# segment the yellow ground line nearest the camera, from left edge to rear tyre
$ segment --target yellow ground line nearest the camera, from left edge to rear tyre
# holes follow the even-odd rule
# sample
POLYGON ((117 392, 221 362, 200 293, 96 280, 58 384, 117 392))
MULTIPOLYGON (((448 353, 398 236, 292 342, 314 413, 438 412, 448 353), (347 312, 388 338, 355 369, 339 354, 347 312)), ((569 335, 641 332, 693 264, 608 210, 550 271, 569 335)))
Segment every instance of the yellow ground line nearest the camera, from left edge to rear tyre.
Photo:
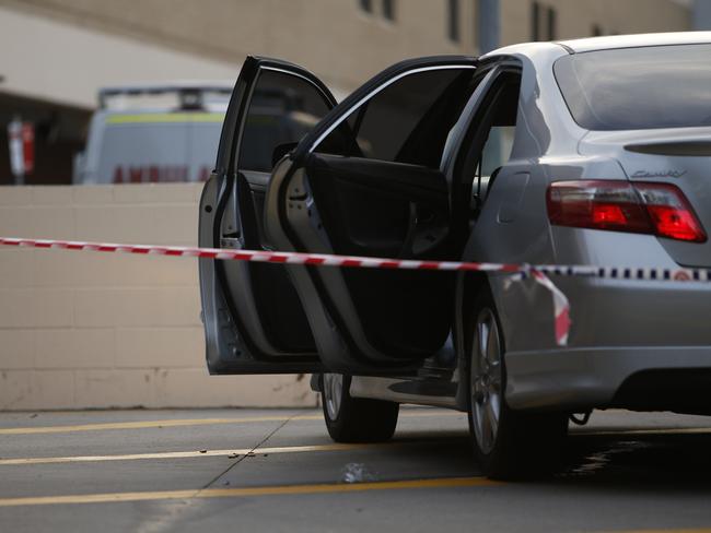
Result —
POLYGON ((244 498, 250 496, 285 496, 311 494, 359 493, 368 490, 404 490, 415 488, 462 488, 493 486, 500 483, 483 477, 443 477, 399 482, 352 484, 284 485, 254 488, 206 488, 203 490, 163 490, 145 493, 109 493, 69 496, 2 498, 0 507, 51 506, 72 504, 116 504, 126 501, 175 500, 190 498, 244 498))

